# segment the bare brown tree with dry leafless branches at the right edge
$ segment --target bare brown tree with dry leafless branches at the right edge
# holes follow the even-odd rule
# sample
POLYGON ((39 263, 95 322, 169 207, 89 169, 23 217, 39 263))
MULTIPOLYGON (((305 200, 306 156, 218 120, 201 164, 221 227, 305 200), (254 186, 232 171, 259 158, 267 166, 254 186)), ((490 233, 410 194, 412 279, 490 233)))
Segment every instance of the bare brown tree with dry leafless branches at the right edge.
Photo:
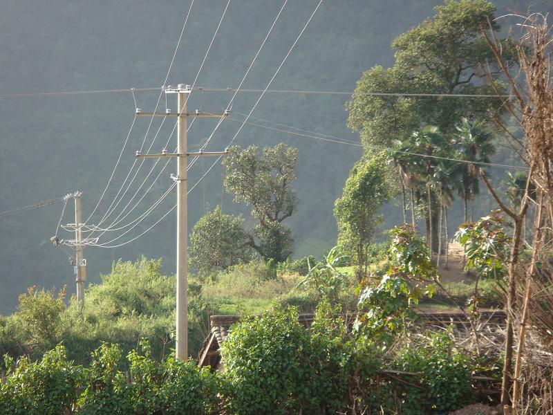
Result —
MULTIPOLYGON (((521 409, 521 373, 522 357, 524 353, 525 338, 527 333, 527 322, 529 311, 535 311, 536 320, 533 325, 536 329, 543 329, 543 333, 553 326, 552 318, 547 318, 547 310, 553 306, 551 295, 532 295, 536 284, 545 284, 545 291, 550 289, 553 283, 552 272, 549 261, 545 258, 550 252, 551 229, 553 225, 553 86, 551 82, 551 62, 553 39, 550 35, 550 28, 547 26, 547 19, 541 14, 532 14, 521 17, 522 28, 520 42, 516 44, 518 60, 521 72, 525 79, 525 86, 518 83, 518 77, 509 72, 507 64, 501 55, 501 45, 498 44, 493 35, 485 35, 497 62, 503 71, 510 87, 512 99, 505 100, 505 107, 514 119, 518 121, 524 133, 523 153, 521 160, 529 165, 529 174, 521 206, 517 212, 507 208, 500 200, 493 187, 483 172, 482 178, 496 199, 501 210, 508 214, 514 221, 514 232, 512 235, 511 252, 509 255, 509 291, 507 296, 507 339, 505 342, 505 362, 503 368, 503 385, 501 403, 505 414, 518 414, 521 409), (530 186, 536 187, 536 214, 534 216, 534 232, 532 234, 532 257, 524 269, 518 267, 518 250, 521 245, 521 230, 525 216, 528 212, 530 186), (544 249, 548 247, 547 249, 544 249), (539 282, 536 279, 538 274, 537 264, 541 266, 539 282), (544 283, 545 281, 545 283, 544 283), (523 294, 522 308, 516 307, 517 288, 523 294), (545 302, 543 299, 545 298, 545 302), (543 317, 543 318, 540 318, 543 317), (514 345, 513 323, 518 320, 518 341, 515 353, 514 371, 512 370, 512 356, 514 345), (511 405, 509 409, 510 382, 513 379, 511 405)), ((492 86, 494 80, 489 76, 492 86)), ((498 89, 496 88, 496 91, 498 89)), ((498 126, 504 124, 496 120, 498 126)), ((507 129, 505 129, 506 131, 507 129)), ((538 293, 536 293, 538 294, 538 293)), ((550 314, 550 312, 549 312, 550 314)), ((550 338, 553 336, 549 334, 550 338)))

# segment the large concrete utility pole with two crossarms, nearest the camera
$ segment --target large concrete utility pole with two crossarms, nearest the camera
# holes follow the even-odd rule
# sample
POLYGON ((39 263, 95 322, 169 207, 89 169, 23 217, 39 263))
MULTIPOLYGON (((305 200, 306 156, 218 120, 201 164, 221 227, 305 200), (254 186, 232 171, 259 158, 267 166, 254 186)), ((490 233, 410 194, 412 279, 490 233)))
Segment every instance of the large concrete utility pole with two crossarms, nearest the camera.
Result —
POLYGON ((176 293, 176 358, 186 360, 188 358, 188 175, 187 164, 188 156, 221 156, 227 154, 227 151, 198 153, 187 152, 187 117, 224 117, 229 112, 223 114, 201 113, 196 110, 194 113, 187 113, 187 100, 191 93, 189 85, 179 84, 176 89, 168 86, 165 93, 178 94, 178 113, 171 113, 169 109, 165 113, 142 113, 136 109, 137 116, 176 116, 177 120, 177 140, 178 147, 176 153, 167 153, 164 149, 162 154, 140 154, 137 151, 137 157, 158 158, 158 157, 176 157, 177 176, 174 180, 177 182, 177 293, 176 293))

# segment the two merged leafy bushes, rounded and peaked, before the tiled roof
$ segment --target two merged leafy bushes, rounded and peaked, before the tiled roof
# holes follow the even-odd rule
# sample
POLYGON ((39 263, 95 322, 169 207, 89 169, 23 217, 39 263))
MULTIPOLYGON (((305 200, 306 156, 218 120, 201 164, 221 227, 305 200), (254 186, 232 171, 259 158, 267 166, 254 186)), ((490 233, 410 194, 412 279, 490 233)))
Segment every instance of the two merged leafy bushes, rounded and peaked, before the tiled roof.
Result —
POLYGON ((327 302, 310 331, 292 308, 236 324, 221 356, 223 400, 231 414, 334 414, 355 395, 355 374, 372 379, 368 368, 377 367, 374 353, 357 351, 327 302))

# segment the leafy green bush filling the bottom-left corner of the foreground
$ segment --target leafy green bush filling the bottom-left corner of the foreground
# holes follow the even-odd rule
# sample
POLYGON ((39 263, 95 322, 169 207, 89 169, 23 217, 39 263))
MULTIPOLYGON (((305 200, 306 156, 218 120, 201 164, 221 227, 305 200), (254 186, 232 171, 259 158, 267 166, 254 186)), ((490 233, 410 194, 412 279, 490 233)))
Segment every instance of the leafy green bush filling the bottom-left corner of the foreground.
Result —
POLYGON ((77 400, 82 368, 66 358, 61 345, 39 362, 6 356, 7 374, 0 382, 0 414, 59 415, 69 413, 77 400))

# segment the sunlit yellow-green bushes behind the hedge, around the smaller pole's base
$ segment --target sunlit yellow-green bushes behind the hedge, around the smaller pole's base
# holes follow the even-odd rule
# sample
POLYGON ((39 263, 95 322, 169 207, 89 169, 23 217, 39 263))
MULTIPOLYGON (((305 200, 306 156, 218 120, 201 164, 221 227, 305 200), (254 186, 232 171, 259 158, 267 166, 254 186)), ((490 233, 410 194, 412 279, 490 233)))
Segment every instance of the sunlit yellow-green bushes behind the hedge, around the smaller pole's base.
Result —
MULTIPOLYGON (((102 342, 120 344, 128 353, 140 338, 148 338, 152 354, 162 359, 174 345, 175 280, 160 273, 161 260, 117 261, 102 284, 86 289, 79 313, 75 298, 67 305, 64 291, 30 288, 19 298, 19 309, 0 317, 0 354, 39 360, 46 351, 64 342, 68 358, 90 362, 91 352, 102 342)), ((198 350, 205 338, 205 302, 189 284, 190 349, 198 350)), ((1 367, 0 363, 0 367, 1 367)))

